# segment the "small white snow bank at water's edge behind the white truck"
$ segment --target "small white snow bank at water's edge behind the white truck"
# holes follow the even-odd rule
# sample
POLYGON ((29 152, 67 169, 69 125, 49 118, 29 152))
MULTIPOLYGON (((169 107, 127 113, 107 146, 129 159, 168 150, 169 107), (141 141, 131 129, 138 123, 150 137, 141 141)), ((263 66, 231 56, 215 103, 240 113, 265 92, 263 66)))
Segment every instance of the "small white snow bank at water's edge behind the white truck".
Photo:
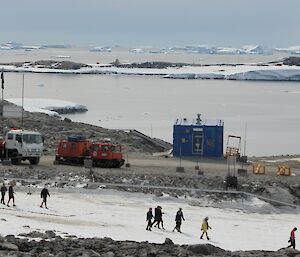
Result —
MULTIPOLYGON (((7 101, 22 106, 22 98, 9 98, 7 101)), ((25 98, 24 110, 29 112, 46 113, 51 116, 59 116, 64 110, 68 112, 80 112, 87 110, 86 106, 72 103, 64 100, 48 99, 48 98, 25 98)))

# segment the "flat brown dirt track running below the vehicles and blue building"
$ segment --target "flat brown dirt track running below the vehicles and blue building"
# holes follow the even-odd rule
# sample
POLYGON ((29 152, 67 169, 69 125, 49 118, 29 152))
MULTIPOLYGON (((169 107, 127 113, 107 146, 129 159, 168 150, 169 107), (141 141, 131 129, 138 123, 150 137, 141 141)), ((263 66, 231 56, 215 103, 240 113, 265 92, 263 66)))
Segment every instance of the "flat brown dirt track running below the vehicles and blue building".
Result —
MULTIPOLYGON (((27 162, 22 163, 19 166, 0 166, 0 171, 3 171, 4 177, 14 177, 14 178, 33 178, 33 179, 51 179, 55 180, 57 177, 61 176, 84 176, 88 177, 90 170, 80 166, 70 166, 70 165, 54 165, 54 156, 45 155, 42 156, 40 164, 37 166, 31 166, 27 162)), ((210 182, 210 187, 214 187, 216 181, 222 183, 226 176, 230 173, 234 173, 238 176, 241 183, 255 183, 255 182, 266 182, 272 183, 290 183, 300 184, 300 169, 298 167, 292 168, 292 175, 289 176, 277 176, 277 164, 267 164, 266 174, 253 174, 252 165, 243 165, 243 169, 247 170, 247 176, 240 176, 237 173, 237 169, 241 168, 241 164, 237 164, 235 169, 234 166, 228 166, 226 160, 201 160, 199 163, 191 160, 179 160, 177 158, 165 158, 152 156, 150 154, 138 154, 129 153, 128 158, 126 158, 125 163, 129 163, 130 167, 125 165, 119 169, 104 169, 104 168, 93 168, 93 174, 95 176, 105 175, 107 178, 111 177, 109 180, 113 182, 115 177, 141 177, 146 176, 147 178, 151 176, 155 177, 180 177, 180 178, 196 178, 207 180, 206 183, 210 182), (184 172, 177 172, 176 167, 184 167, 184 172), (198 165, 200 171, 195 169, 198 165), (230 169, 229 169, 230 168, 230 169)), ((281 163, 281 162, 280 162, 281 163)), ((288 162, 286 162, 288 164, 288 162)), ((119 182, 119 181, 116 181, 119 182)), ((219 183, 218 183, 219 184, 219 183)), ((218 189, 219 185, 216 185, 218 189)))

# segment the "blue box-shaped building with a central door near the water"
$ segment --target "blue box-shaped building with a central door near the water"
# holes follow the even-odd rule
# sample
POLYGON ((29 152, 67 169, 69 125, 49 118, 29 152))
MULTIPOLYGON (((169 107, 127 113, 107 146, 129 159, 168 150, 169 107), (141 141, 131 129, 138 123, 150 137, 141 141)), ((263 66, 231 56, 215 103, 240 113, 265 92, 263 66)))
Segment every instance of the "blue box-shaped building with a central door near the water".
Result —
POLYGON ((177 119, 173 127, 173 155, 222 157, 223 134, 221 120, 203 121, 200 114, 194 120, 177 119))

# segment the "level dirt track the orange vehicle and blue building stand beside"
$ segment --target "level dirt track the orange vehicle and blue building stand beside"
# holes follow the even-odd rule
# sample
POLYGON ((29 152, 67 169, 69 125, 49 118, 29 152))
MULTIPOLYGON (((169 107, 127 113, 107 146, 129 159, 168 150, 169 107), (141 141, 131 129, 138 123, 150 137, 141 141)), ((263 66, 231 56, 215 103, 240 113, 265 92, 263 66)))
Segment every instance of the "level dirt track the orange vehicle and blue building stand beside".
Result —
MULTIPOLYGON (((35 176, 34 173, 39 174, 40 176, 45 176, 47 178, 55 177, 59 174, 68 174, 74 173, 76 175, 85 175, 88 170, 80 166, 70 166, 70 165, 54 165, 55 157, 52 155, 44 155, 41 158, 39 165, 31 166, 27 162, 23 162, 20 166, 0 166, 0 170, 15 170, 18 171, 19 176, 24 178, 24 174, 31 171, 32 176, 35 176)), ((272 160, 272 163, 269 162, 259 162, 266 165, 266 174, 253 174, 252 173, 252 164, 237 164, 235 166, 228 166, 226 160, 201 160, 200 162, 191 161, 191 160, 179 160, 178 158, 165 158, 162 156, 152 156, 150 154, 138 154, 138 153, 129 153, 125 155, 125 163, 129 163, 130 167, 121 167, 120 169, 104 169, 104 168, 93 168, 95 174, 111 174, 111 175, 128 175, 128 174, 147 174, 147 175, 164 175, 164 176, 180 176, 180 177, 191 177, 199 176, 199 170, 195 166, 199 166, 200 170, 203 172, 204 177, 222 177, 225 178, 228 173, 237 174, 239 168, 247 170, 247 179, 249 181, 253 180, 269 180, 271 181, 299 181, 300 183, 300 168, 299 164, 295 165, 295 162, 291 162, 291 171, 293 176, 277 176, 277 165, 284 163, 289 165, 288 161, 282 162, 278 161, 277 163, 272 160), (184 172, 176 172, 176 167, 183 167, 184 172), (294 167, 294 168, 293 168, 294 167)), ((258 163, 257 160, 255 163, 258 163)), ((17 174, 15 174, 17 175, 17 174)), ((17 175, 18 176, 18 175, 17 175)), ((244 180, 247 180, 244 178, 244 180)))

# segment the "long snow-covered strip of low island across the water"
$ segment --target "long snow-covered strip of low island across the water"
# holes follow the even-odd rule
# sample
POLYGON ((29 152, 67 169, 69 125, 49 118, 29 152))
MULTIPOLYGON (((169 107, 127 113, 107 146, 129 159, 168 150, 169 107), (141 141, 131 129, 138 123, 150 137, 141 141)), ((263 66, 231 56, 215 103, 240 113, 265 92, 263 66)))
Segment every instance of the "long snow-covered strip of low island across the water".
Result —
POLYGON ((171 79, 229 79, 229 80, 278 80, 300 81, 300 67, 287 65, 209 65, 183 66, 165 69, 120 68, 110 65, 89 64, 78 70, 61 70, 30 66, 15 67, 1 65, 4 71, 61 73, 61 74, 114 74, 114 75, 152 75, 171 79))

